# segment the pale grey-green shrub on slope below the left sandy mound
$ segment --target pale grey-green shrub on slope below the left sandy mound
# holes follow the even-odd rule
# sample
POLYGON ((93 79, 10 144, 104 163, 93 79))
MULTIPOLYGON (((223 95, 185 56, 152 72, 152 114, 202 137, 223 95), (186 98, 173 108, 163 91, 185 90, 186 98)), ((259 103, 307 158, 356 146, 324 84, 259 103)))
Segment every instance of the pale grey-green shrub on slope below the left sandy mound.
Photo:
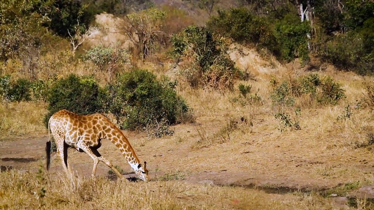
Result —
POLYGON ((98 44, 91 47, 84 58, 93 62, 101 71, 107 71, 111 79, 116 72, 130 65, 131 53, 126 49, 103 47, 98 44))

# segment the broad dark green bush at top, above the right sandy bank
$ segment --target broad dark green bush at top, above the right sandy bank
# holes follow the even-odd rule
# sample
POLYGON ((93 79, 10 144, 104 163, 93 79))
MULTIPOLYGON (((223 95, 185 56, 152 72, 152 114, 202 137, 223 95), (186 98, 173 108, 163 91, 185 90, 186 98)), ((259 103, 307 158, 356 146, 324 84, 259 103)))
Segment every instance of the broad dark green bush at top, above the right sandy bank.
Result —
POLYGON ((237 42, 258 44, 277 54, 276 37, 269 24, 245 7, 231 8, 229 11, 218 10, 218 15, 211 16, 207 27, 237 42))

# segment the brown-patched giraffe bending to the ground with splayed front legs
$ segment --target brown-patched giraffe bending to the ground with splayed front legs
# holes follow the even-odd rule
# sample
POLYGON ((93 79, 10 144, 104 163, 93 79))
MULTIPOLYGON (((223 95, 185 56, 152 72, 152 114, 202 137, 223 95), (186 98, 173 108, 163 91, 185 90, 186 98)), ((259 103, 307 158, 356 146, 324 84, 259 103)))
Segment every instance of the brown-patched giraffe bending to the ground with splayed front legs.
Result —
POLYGON ((93 160, 92 177, 96 176, 96 168, 99 161, 110 167, 120 179, 122 174, 113 166, 111 161, 105 159, 97 151, 101 146, 101 139, 110 140, 125 156, 126 160, 138 175, 138 177, 146 182, 149 181, 148 170, 144 161, 142 165, 135 154, 134 149, 130 145, 129 140, 107 117, 102 114, 78 115, 66 109, 55 112, 48 121, 48 139, 46 142, 46 164, 47 170, 50 166, 50 131, 56 142, 57 152, 61 158, 62 166, 65 173, 73 181, 73 173, 70 164, 67 162, 67 148, 71 147, 79 152, 85 152, 93 160))

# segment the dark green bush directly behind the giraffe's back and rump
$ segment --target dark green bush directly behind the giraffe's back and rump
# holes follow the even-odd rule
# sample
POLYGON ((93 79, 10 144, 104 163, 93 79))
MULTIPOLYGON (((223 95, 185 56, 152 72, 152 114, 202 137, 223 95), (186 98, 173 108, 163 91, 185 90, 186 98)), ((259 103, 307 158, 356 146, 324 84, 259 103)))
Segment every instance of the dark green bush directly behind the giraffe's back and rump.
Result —
POLYGON ((47 102, 48 113, 44 118, 46 127, 50 116, 60 109, 67 109, 77 114, 105 112, 106 92, 92 77, 70 74, 67 78, 60 78, 51 85, 47 102))

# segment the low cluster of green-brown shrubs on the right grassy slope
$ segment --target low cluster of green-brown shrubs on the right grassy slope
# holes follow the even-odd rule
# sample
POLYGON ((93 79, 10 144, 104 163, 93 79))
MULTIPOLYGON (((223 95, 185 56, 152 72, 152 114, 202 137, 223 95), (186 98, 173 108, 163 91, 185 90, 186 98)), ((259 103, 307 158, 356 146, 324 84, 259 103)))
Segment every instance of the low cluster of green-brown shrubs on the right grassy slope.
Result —
POLYGON ((270 95, 275 105, 293 106, 295 97, 309 95, 319 104, 337 104, 345 98, 345 91, 341 85, 331 77, 319 77, 318 74, 309 74, 293 80, 284 80, 279 83, 275 77, 270 81, 273 93, 270 95))

